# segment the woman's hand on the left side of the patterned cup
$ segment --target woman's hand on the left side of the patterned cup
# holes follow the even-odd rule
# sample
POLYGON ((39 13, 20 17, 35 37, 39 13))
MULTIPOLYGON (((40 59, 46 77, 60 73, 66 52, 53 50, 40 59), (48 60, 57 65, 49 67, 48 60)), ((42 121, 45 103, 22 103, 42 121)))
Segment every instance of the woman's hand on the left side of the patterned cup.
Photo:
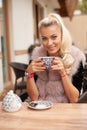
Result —
POLYGON ((41 58, 34 59, 27 67, 26 72, 28 73, 34 73, 38 71, 44 71, 45 67, 43 66, 43 63, 41 62, 41 58))

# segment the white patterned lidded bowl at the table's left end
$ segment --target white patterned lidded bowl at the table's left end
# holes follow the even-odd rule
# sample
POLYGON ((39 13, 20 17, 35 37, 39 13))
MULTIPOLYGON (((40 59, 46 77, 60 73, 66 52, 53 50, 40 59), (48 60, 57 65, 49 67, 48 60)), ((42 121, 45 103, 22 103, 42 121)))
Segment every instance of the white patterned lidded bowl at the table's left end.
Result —
POLYGON ((22 101, 20 97, 10 90, 2 101, 2 107, 7 112, 18 111, 22 107, 22 101))

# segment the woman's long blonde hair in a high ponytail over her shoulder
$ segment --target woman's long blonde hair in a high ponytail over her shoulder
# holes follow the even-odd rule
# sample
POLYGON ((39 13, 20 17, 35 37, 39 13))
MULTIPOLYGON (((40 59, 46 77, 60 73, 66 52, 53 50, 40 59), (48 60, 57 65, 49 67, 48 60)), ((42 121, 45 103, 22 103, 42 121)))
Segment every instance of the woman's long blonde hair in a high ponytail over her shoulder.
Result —
POLYGON ((41 27, 46 27, 53 24, 57 24, 61 29, 62 45, 60 48, 60 55, 63 59, 65 68, 69 68, 74 62, 74 58, 71 55, 72 38, 68 29, 65 27, 61 16, 56 13, 50 13, 48 17, 42 19, 39 22, 38 26, 39 26, 39 29, 41 29, 41 27))

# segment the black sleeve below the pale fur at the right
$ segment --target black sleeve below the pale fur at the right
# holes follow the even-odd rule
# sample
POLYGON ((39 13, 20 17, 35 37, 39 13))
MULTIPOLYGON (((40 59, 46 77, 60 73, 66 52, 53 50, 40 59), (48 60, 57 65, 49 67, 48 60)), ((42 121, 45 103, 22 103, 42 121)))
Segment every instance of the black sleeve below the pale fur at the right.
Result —
POLYGON ((79 64, 78 71, 75 75, 73 75, 72 83, 73 85, 81 92, 82 83, 83 83, 83 74, 84 74, 84 67, 82 61, 79 64))

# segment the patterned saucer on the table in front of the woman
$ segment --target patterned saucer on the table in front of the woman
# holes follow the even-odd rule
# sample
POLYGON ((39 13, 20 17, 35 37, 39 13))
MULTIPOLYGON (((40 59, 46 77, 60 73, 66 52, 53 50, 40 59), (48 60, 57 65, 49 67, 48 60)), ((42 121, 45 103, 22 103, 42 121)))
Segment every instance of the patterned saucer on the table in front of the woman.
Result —
POLYGON ((36 109, 36 110, 44 110, 51 108, 53 106, 53 103, 51 101, 32 101, 29 102, 28 107, 31 109, 36 109))

